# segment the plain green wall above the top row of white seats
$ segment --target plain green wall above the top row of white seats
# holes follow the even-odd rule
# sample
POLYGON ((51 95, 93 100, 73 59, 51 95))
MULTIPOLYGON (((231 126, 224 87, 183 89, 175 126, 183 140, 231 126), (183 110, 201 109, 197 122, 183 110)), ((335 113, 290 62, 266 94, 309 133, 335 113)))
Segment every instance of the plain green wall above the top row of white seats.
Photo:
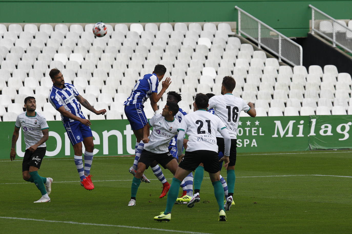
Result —
POLYGON ((335 19, 351 18, 350 0, 0 0, 0 22, 224 22, 237 21, 237 10, 234 9, 237 5, 286 36, 305 37, 311 18, 308 4, 335 19))

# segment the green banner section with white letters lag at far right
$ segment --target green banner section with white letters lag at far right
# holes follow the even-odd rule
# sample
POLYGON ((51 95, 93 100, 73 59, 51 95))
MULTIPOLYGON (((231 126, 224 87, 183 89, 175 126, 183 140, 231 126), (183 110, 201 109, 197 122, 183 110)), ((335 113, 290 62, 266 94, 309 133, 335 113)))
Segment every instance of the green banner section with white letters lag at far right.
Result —
POLYGON ((310 149, 352 148, 352 115, 311 115, 310 149))

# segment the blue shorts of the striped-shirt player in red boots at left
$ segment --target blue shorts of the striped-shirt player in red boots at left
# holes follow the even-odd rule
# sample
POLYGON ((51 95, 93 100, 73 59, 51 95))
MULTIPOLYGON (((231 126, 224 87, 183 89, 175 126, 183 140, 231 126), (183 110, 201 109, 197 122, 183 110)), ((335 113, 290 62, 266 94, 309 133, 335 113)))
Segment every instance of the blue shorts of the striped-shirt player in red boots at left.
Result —
POLYGON ((64 123, 64 127, 68 139, 70 139, 73 146, 83 141, 83 138, 93 136, 90 127, 84 125, 80 121, 66 122, 64 123))

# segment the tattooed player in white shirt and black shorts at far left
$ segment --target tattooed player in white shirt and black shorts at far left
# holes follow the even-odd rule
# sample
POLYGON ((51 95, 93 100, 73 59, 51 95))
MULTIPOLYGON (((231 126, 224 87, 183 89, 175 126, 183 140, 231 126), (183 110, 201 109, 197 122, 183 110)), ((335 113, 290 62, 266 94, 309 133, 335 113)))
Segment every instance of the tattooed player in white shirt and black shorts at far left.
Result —
POLYGON ((22 163, 22 176, 25 181, 34 183, 42 193, 39 202, 50 202, 49 194, 51 192, 51 178, 41 177, 38 169, 46 152, 45 141, 49 138, 49 126, 46 123, 45 116, 35 112, 36 99, 27 97, 24 100, 26 112, 17 116, 15 129, 12 135, 12 146, 10 152, 11 161, 16 157, 15 145, 19 136, 19 129, 22 127, 26 151, 22 163))

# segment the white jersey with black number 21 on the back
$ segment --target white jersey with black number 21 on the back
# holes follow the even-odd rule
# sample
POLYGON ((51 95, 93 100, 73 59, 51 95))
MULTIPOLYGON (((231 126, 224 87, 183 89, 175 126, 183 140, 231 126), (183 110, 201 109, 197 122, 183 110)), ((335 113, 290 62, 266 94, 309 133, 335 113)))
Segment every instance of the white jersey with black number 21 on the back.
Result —
POLYGON ((183 116, 180 131, 188 135, 187 151, 208 150, 218 152, 216 133, 226 128, 216 115, 203 109, 183 116))

